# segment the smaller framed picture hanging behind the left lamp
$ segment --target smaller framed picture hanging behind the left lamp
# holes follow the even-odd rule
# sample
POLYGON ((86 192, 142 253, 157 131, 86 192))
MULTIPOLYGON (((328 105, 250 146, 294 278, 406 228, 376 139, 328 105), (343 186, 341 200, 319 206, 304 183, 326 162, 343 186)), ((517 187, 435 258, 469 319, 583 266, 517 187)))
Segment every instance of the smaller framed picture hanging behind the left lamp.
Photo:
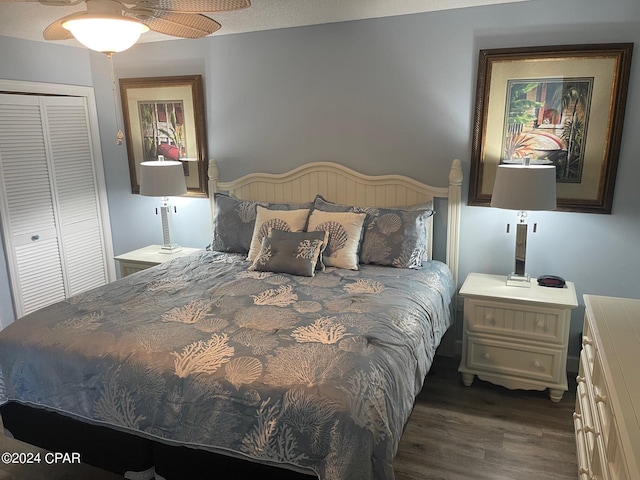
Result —
POLYGON ((182 162, 187 196, 207 196, 207 136, 201 75, 121 78, 120 98, 131 191, 140 193, 140 163, 182 162))

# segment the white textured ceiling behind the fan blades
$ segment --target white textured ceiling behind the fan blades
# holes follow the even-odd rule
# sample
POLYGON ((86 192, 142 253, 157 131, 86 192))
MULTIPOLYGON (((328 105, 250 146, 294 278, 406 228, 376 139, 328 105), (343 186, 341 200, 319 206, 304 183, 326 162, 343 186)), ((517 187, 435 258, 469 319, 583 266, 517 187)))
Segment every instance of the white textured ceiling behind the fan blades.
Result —
MULTIPOLYGON (((519 1, 527 0, 251 0, 247 9, 209 16, 222 24, 213 35, 227 35, 519 1)), ((84 3, 52 7, 37 1, 0 0, 0 35, 44 41, 42 32, 49 24, 84 9, 84 3)), ((148 32, 140 42, 172 39, 148 32)), ((75 40, 57 43, 80 45, 75 40)))

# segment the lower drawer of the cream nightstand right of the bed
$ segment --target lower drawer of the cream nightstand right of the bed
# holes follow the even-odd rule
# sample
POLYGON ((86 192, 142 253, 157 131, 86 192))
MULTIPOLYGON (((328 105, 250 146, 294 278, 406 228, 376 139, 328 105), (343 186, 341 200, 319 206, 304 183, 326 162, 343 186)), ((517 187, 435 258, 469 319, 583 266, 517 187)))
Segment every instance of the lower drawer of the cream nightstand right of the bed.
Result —
POLYGON ((560 350, 518 345, 469 335, 467 339, 469 368, 514 377, 557 382, 564 368, 560 350))

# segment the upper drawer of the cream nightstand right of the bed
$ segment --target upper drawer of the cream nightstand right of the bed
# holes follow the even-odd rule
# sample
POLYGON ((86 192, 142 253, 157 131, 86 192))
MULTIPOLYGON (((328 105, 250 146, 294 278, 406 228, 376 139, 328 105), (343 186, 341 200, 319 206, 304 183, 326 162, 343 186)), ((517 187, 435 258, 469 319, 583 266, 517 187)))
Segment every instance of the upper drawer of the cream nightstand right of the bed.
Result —
POLYGON ((557 308, 475 299, 465 302, 470 332, 496 333, 548 343, 566 343, 566 315, 566 310, 557 308))

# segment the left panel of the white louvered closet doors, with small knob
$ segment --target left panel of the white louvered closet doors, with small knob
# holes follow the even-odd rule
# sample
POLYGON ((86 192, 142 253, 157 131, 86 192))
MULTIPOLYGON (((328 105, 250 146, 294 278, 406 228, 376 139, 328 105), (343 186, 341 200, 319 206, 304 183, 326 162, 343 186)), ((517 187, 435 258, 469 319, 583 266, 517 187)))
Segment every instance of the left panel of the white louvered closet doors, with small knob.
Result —
POLYGON ((18 317, 65 298, 38 97, 0 95, 2 227, 18 317))

